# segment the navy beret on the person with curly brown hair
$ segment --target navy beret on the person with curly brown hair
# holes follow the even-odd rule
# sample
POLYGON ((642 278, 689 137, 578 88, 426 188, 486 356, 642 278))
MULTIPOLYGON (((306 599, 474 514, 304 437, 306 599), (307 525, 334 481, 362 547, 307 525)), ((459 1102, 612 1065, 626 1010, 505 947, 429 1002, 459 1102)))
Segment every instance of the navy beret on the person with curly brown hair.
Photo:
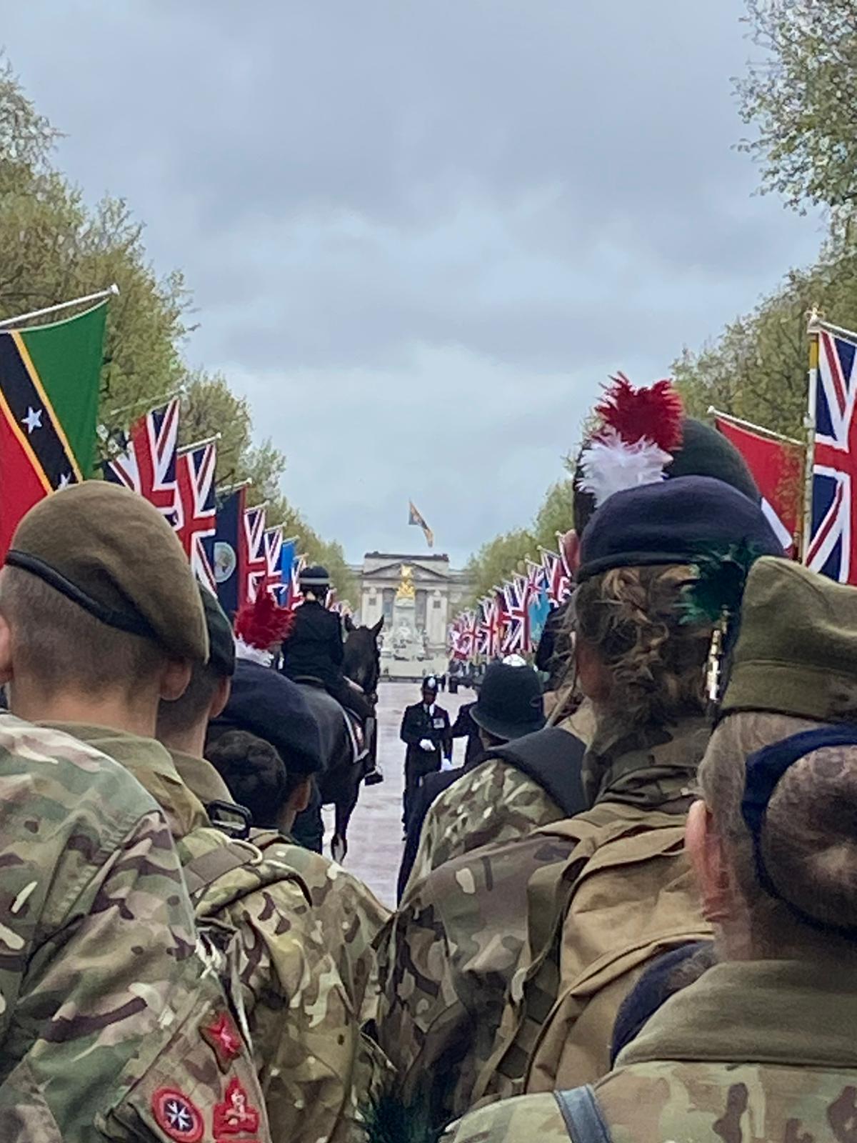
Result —
POLYGON ((610 496, 580 538, 578 583, 611 568, 692 563, 702 552, 746 543, 759 555, 783 545, 758 504, 722 480, 676 477, 610 496))

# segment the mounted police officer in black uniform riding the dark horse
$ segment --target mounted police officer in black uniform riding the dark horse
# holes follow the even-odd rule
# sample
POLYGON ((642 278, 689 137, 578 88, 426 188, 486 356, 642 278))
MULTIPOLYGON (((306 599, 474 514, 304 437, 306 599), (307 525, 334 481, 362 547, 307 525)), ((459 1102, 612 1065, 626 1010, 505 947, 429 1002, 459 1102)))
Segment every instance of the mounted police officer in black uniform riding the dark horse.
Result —
POLYGON ((327 568, 305 568, 301 591, 304 602, 296 608, 294 626, 282 645, 282 672, 289 679, 319 679, 342 706, 366 721, 373 714, 373 704, 343 674, 342 621, 325 606, 330 591, 327 568))

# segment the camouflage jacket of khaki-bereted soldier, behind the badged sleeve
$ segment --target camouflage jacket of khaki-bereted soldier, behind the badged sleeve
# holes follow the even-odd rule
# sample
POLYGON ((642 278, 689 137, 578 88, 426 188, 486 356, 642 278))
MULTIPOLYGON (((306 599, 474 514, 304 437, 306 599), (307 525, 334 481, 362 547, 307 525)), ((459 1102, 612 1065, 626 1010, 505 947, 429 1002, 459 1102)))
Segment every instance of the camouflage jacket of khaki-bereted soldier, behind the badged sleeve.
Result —
MULTIPOLYGON (((241 940, 241 985, 272 1133, 295 1143, 351 1140, 362 1095, 353 1079, 363 1050, 358 1014, 303 879, 211 828, 160 743, 103 727, 62 728, 121 762, 149 790, 166 813, 183 866, 217 847, 247 846, 255 866, 246 880, 256 892, 242 893, 242 871, 233 871, 235 892, 216 916, 241 940), (267 874, 264 888, 256 888, 259 866, 267 874)), ((197 911, 209 916, 205 901, 197 911)))

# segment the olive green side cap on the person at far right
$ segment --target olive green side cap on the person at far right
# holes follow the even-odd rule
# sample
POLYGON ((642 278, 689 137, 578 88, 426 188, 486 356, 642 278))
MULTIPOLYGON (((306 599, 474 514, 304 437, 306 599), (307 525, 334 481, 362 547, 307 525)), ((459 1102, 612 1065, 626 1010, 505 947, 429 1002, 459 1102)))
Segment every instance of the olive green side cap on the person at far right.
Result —
POLYGON ((857 714, 857 590, 799 563, 753 565, 721 717, 772 711, 851 721, 857 714))

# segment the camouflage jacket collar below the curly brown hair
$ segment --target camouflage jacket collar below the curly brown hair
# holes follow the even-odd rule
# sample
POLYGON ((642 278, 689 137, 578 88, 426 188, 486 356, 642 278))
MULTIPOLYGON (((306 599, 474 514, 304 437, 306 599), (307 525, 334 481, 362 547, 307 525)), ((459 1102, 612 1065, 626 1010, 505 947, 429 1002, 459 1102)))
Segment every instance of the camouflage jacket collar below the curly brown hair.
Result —
POLYGON ((622 737, 596 734, 583 759, 583 788, 591 805, 600 801, 658 807, 684 813, 694 796, 696 772, 711 737, 703 716, 671 726, 639 727, 622 737))

